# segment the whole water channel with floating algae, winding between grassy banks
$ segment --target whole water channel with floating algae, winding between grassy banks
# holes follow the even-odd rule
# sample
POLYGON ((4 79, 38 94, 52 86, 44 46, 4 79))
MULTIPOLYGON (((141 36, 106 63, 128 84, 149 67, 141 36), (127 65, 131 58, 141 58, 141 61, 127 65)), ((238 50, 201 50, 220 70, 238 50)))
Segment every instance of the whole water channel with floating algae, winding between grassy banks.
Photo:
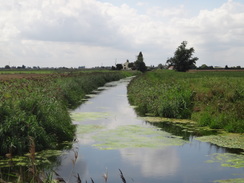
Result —
MULTIPOLYGON (((72 111, 78 125, 73 150, 62 155, 56 172, 69 182, 213 182, 244 179, 244 168, 210 162, 228 149, 175 136, 139 118, 127 99, 130 79, 108 83, 72 111), (74 162, 75 154, 77 160, 74 162), (73 160, 73 162, 72 162, 73 160)), ((143 89, 143 88, 142 88, 143 89)))

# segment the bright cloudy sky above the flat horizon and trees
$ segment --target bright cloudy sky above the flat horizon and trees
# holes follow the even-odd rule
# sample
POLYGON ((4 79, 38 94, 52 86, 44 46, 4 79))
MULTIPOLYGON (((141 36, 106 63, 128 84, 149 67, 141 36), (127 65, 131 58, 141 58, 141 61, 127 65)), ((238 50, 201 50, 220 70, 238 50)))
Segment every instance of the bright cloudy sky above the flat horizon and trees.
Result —
POLYGON ((244 0, 0 0, 0 67, 165 64, 182 41, 202 64, 244 67, 244 0))

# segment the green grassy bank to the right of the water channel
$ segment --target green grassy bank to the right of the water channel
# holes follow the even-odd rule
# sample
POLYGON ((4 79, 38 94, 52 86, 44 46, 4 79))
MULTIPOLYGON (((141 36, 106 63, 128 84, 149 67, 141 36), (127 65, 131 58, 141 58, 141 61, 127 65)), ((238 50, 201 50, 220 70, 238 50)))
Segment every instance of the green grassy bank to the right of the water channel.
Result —
POLYGON ((128 86, 141 115, 192 119, 200 126, 244 132, 244 72, 157 70, 128 86))

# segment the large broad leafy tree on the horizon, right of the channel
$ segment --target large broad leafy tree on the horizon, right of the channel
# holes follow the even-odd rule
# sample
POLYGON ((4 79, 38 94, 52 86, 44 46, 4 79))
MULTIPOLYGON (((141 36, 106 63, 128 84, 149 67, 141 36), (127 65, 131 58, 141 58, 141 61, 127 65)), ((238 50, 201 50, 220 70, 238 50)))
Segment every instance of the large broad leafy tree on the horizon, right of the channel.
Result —
POLYGON ((167 60, 167 64, 174 66, 174 70, 185 72, 195 67, 197 57, 192 57, 195 52, 194 48, 186 48, 187 41, 183 41, 176 49, 174 57, 167 60))

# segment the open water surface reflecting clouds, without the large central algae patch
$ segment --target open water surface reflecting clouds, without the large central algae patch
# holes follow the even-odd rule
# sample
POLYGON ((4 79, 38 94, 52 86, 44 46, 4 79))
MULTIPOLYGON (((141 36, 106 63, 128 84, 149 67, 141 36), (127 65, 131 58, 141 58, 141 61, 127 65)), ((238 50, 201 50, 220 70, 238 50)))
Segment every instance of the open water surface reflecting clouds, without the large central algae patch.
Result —
POLYGON ((104 182, 102 175, 106 168, 109 173, 108 182, 121 181, 118 169, 123 171, 127 182, 138 183, 212 182, 219 179, 243 177, 243 168, 233 169, 221 167, 218 163, 206 163, 210 159, 208 155, 216 152, 224 153, 226 149, 194 139, 178 146, 166 145, 154 148, 130 147, 100 150, 94 147, 93 145, 97 143, 94 136, 101 131, 111 133, 123 125, 151 128, 148 123, 137 118, 133 107, 129 105, 126 97, 127 84, 128 80, 114 82, 113 87, 102 90, 73 111, 73 113, 82 112, 91 115, 93 113, 100 116, 97 119, 89 119, 89 117, 82 120, 74 119, 75 124, 97 125, 98 128, 90 129, 89 133, 77 135, 78 143, 75 143, 74 147, 77 147, 79 156, 73 173, 71 172, 74 153, 71 151, 63 156, 61 166, 57 171, 66 180, 69 177, 75 180, 75 176, 79 173, 83 181, 89 182, 92 177, 95 182, 104 182), (239 174, 239 176, 233 174, 239 174))

